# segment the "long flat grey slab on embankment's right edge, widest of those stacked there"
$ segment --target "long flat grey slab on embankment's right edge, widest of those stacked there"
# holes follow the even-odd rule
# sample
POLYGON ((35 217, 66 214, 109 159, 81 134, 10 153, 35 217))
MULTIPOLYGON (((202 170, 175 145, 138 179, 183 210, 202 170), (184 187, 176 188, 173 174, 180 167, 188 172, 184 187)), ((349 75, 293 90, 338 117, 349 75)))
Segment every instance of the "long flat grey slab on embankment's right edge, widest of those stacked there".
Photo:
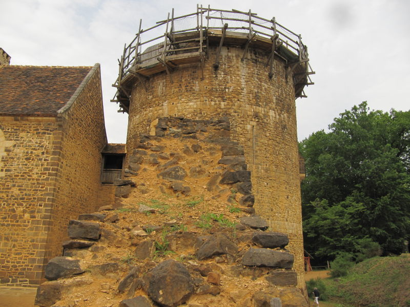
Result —
POLYGON ((279 252, 265 248, 250 248, 242 257, 242 265, 291 269, 293 260, 293 255, 288 252, 279 252))

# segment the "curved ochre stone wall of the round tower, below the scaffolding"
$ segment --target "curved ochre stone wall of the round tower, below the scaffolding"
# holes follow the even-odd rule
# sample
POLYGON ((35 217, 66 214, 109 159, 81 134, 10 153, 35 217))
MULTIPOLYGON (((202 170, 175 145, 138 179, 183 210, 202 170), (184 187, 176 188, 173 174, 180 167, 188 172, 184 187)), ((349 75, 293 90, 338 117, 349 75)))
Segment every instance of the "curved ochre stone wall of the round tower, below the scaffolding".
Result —
MULTIPOLYGON (((303 238, 293 83, 286 82, 284 63, 275 60, 274 76, 265 68, 267 55, 250 49, 223 47, 219 69, 212 68, 216 47, 201 65, 179 67, 135 84, 129 113, 128 152, 140 133, 149 133, 160 117, 209 119, 228 116, 231 138, 244 148, 252 172, 256 212, 270 221, 272 231, 289 234, 300 287, 304 281, 303 238)), ((127 158, 128 159, 128 158, 127 158)))

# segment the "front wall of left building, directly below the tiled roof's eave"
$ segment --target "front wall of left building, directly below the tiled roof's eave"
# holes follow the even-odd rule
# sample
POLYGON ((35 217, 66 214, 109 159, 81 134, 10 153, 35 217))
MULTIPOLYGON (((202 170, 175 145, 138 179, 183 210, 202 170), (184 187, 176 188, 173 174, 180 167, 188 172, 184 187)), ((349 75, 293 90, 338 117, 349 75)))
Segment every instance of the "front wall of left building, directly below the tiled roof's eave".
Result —
POLYGON ((55 190, 49 153, 58 129, 56 118, 0 117, 2 284, 40 282, 55 190))

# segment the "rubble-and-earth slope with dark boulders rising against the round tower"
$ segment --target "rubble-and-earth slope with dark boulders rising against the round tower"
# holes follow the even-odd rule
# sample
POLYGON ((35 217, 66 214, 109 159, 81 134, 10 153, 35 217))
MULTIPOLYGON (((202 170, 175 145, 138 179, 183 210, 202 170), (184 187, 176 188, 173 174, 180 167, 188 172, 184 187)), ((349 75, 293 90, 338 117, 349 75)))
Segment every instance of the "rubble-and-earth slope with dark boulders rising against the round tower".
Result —
POLYGON ((286 234, 254 214, 227 119, 159 119, 129 156, 113 206, 70 221, 36 304, 306 306, 286 234))

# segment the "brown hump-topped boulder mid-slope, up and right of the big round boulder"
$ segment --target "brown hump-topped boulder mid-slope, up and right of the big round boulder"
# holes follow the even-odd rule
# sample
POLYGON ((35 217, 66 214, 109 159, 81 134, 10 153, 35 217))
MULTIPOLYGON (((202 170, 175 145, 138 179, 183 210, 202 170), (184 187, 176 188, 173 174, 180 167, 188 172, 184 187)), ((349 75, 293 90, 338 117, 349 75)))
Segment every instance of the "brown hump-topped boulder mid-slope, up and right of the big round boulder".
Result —
POLYGON ((200 244, 196 252, 196 257, 202 260, 214 255, 235 255, 237 252, 238 247, 226 235, 215 233, 204 237, 202 244, 200 244))

